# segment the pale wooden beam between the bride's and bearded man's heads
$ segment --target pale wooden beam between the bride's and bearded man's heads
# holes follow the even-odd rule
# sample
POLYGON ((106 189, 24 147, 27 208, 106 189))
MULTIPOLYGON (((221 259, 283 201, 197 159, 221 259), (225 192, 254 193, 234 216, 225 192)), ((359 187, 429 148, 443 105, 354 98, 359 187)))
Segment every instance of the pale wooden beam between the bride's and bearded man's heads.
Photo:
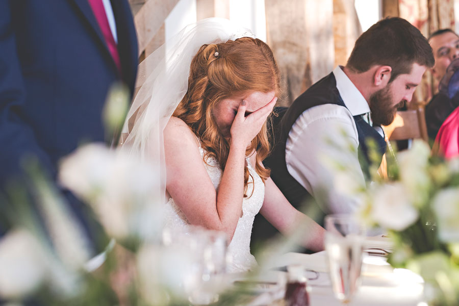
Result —
POLYGON ((333 0, 266 0, 267 42, 281 70, 289 106, 334 67, 333 0))

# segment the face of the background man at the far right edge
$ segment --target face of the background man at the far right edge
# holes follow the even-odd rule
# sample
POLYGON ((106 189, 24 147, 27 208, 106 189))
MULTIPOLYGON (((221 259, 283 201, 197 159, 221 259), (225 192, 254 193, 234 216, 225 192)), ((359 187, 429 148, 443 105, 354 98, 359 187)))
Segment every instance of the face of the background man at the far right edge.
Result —
POLYGON ((459 37, 454 33, 446 32, 430 38, 429 43, 435 58, 432 74, 440 81, 451 61, 459 56, 459 37))

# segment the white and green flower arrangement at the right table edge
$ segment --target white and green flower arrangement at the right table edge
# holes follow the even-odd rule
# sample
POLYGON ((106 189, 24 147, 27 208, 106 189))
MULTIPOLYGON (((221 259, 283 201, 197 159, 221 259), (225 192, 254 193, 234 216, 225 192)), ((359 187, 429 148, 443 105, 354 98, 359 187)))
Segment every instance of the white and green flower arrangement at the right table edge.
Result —
POLYGON ((427 143, 414 140, 389 168, 390 181, 373 177, 352 192, 361 201, 358 214, 368 226, 388 232, 394 250, 388 262, 410 269, 425 281, 432 304, 459 300, 459 159, 430 155, 427 143))

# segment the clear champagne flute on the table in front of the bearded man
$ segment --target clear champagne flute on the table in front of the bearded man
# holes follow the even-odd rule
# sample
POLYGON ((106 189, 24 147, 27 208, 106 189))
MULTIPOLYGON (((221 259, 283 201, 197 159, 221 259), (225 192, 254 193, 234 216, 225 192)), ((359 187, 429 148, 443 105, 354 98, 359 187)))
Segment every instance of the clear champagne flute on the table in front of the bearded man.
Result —
POLYGON ((351 215, 325 217, 325 250, 335 296, 348 304, 360 285, 365 228, 351 215))

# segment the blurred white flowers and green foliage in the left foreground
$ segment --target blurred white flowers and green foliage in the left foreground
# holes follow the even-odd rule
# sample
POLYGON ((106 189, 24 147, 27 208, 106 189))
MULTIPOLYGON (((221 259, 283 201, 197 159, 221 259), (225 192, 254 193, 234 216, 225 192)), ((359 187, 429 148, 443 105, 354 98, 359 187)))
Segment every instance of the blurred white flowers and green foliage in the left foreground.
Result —
MULTIPOLYGON (((104 112, 114 133, 128 105, 124 90, 112 89, 104 112)), ((0 215, 8 224, 0 237, 0 303, 189 305, 191 298, 214 302, 226 288, 218 274, 225 263, 214 259, 222 251, 225 260, 226 236, 212 242, 218 233, 195 229, 163 243, 158 165, 89 143, 61 161, 57 185, 35 159, 24 168, 30 186, 12 185, 5 197, 13 205, 0 215), (110 243, 91 245, 63 190, 89 205, 110 243)), ((235 298, 228 293, 219 303, 235 298)))

